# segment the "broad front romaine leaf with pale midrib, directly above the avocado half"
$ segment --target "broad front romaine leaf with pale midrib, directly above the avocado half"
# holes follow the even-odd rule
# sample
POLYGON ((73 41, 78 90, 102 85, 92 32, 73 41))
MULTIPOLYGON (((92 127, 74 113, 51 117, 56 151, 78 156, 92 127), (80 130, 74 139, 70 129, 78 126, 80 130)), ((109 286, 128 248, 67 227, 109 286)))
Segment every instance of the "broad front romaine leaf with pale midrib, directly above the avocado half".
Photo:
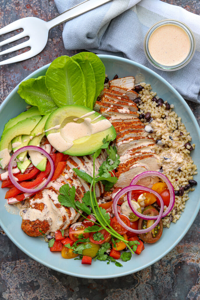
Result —
POLYGON ((79 64, 69 56, 56 58, 46 72, 45 84, 58 107, 86 105, 85 77, 79 64))

